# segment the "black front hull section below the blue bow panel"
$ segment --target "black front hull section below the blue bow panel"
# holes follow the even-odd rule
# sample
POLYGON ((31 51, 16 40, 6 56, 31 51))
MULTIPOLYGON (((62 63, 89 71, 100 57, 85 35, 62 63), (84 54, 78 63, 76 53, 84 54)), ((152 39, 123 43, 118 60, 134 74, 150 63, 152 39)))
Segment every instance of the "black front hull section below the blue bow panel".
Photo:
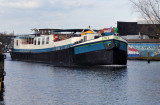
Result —
POLYGON ((83 53, 75 56, 76 65, 126 65, 127 53, 113 48, 111 50, 99 50, 83 53))

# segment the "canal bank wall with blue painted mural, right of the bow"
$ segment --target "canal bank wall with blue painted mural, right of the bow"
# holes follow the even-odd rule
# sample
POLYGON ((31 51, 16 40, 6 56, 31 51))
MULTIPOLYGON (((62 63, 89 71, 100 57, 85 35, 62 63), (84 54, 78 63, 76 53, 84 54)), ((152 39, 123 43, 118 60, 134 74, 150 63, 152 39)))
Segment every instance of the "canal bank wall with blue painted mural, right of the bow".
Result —
POLYGON ((160 39, 129 39, 128 59, 160 61, 160 39))

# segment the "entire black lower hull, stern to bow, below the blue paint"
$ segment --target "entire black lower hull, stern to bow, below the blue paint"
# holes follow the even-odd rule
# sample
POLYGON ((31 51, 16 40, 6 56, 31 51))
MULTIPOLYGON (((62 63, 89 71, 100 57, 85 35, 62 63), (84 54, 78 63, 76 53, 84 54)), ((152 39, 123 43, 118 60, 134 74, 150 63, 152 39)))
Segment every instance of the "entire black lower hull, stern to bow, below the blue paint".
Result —
POLYGON ((74 48, 43 53, 11 52, 13 60, 38 61, 54 66, 126 65, 127 52, 116 47, 82 54, 74 54, 74 48))

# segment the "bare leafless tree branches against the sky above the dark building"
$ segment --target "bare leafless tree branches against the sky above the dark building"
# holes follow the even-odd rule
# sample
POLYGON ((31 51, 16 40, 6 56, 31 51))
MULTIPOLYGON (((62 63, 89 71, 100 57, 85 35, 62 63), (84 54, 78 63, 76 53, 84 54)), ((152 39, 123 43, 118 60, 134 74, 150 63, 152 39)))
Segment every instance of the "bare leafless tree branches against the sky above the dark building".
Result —
POLYGON ((160 0, 130 0, 136 12, 149 24, 160 24, 160 0))

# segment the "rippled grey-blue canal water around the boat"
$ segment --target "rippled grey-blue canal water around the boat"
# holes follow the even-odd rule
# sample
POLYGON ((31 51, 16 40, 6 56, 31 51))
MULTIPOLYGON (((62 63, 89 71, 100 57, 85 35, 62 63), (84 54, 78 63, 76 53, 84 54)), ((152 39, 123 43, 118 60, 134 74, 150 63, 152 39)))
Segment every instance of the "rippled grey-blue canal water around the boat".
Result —
POLYGON ((0 105, 160 105, 160 62, 54 67, 5 60, 0 105))

